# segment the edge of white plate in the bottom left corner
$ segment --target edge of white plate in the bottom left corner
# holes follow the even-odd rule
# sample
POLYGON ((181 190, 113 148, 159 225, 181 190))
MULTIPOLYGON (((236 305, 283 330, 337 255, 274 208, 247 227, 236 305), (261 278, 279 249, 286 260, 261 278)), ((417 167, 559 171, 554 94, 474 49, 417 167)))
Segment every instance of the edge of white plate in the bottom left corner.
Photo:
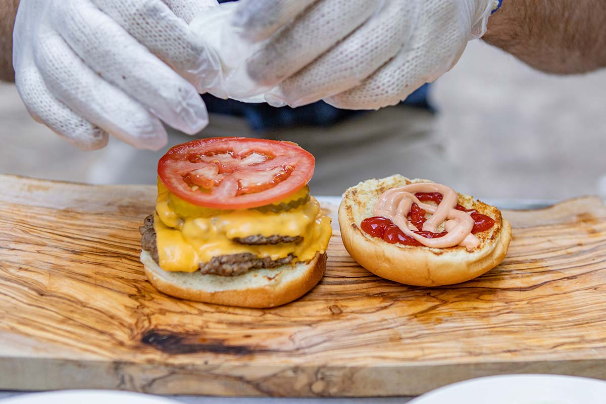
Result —
POLYGON ((178 404, 162 397, 127 391, 70 390, 24 394, 2 404, 178 404))

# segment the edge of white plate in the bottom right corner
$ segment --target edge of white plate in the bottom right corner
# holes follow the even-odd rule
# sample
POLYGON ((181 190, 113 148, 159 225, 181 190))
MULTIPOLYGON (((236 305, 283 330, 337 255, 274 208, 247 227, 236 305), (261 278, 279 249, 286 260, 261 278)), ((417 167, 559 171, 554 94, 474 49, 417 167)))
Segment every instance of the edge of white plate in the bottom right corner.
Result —
POLYGON ((454 383, 408 404, 604 404, 606 382, 547 374, 490 376, 454 383))

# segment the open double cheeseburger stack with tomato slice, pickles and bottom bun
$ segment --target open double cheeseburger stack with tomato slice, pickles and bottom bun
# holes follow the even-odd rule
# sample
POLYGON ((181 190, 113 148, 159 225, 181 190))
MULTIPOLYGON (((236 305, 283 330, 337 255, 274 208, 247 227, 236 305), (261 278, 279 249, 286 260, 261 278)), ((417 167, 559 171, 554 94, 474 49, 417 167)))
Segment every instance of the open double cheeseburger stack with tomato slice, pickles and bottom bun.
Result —
POLYGON ((326 269, 330 218, 310 196, 314 157, 291 142, 215 137, 158 162, 141 262, 158 290, 266 308, 298 299, 326 269))

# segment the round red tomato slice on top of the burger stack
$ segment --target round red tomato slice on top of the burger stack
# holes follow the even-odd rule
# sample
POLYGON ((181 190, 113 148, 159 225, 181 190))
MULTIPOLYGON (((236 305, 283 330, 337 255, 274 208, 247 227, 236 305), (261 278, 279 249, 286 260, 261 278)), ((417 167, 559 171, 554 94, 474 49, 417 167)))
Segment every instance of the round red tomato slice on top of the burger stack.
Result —
POLYGON ((291 142, 212 137, 177 145, 158 162, 171 193, 207 208, 248 209, 296 193, 313 176, 315 159, 291 142))

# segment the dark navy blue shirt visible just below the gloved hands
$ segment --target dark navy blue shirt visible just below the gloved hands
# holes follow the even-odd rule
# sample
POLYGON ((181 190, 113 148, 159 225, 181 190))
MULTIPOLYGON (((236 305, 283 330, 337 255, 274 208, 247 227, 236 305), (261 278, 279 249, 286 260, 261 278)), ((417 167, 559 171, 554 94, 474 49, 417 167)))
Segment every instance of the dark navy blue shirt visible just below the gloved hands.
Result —
MULTIPOLYGON (((220 3, 228 1, 236 0, 219 0, 220 3)), ((429 84, 425 84, 410 94, 399 106, 424 108, 425 110, 433 111, 427 98, 429 88, 429 84)), ((341 110, 326 104, 324 101, 318 101, 314 104, 298 108, 275 108, 267 104, 247 104, 232 99, 224 100, 210 94, 203 94, 202 98, 209 112, 244 118, 250 128, 255 131, 296 126, 326 127, 338 124, 354 116, 371 113, 371 111, 341 110)))

